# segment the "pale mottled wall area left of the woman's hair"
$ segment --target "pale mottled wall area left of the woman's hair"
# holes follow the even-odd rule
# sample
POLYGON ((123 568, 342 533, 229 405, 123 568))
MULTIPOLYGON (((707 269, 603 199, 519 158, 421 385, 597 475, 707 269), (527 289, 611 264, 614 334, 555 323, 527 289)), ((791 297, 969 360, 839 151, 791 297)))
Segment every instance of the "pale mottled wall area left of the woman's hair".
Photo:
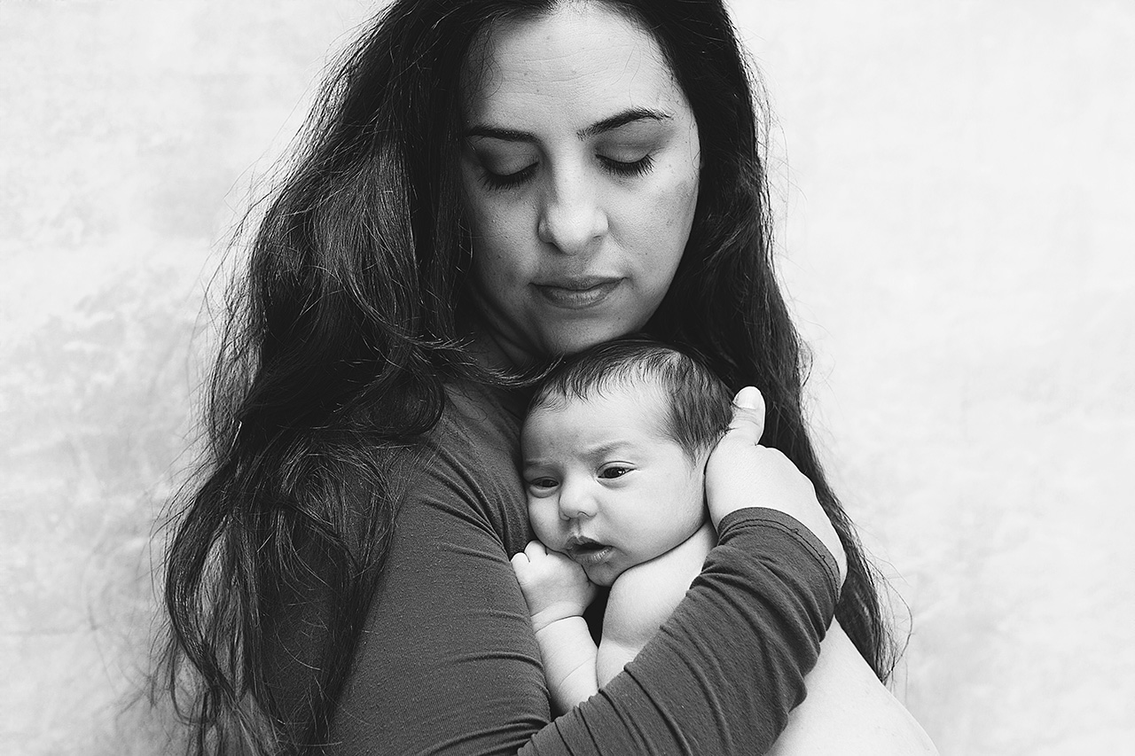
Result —
POLYGON ((203 289, 365 14, 0 2, 0 753, 163 746, 149 544, 192 462, 203 289))

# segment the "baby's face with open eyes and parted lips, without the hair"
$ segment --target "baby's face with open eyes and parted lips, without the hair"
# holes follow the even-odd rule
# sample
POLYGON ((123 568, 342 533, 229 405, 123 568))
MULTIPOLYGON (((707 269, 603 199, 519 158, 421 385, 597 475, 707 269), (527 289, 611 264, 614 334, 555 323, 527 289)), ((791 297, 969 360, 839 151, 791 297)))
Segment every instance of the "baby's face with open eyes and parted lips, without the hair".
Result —
POLYGON ((705 521, 705 459, 663 432, 653 386, 612 387, 533 411, 521 436, 528 512, 545 546, 609 586, 705 521))

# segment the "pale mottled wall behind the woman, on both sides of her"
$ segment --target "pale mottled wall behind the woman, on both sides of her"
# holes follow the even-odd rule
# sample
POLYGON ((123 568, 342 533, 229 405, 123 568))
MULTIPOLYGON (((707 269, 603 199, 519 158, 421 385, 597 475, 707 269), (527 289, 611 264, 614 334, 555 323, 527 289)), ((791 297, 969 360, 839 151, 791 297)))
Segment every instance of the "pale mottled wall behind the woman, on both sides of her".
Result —
MULTIPOLYGON (((359 0, 0 0, 0 750, 152 754, 205 285, 359 0), (133 704, 131 703, 133 700, 133 704)), ((738 1, 813 419, 943 754, 1135 740, 1135 5, 738 1)))

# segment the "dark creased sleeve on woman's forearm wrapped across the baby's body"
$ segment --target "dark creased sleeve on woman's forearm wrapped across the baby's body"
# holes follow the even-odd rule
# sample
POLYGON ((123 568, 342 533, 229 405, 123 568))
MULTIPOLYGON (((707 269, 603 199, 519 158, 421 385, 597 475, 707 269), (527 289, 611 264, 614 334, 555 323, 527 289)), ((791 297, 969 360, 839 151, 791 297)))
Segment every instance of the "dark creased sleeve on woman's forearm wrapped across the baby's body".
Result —
POLYGON ((804 698, 836 585, 834 560, 798 522, 734 512, 658 635, 531 753, 765 753, 804 698))

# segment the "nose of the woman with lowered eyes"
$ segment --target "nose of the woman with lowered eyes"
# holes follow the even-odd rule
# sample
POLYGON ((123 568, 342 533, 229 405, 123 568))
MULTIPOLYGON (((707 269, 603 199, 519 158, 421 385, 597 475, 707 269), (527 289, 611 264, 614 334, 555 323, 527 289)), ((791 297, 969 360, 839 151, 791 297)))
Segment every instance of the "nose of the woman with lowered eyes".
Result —
POLYGON ((586 252, 607 233, 607 216, 585 171, 561 175, 540 204, 536 235, 564 254, 586 252))

